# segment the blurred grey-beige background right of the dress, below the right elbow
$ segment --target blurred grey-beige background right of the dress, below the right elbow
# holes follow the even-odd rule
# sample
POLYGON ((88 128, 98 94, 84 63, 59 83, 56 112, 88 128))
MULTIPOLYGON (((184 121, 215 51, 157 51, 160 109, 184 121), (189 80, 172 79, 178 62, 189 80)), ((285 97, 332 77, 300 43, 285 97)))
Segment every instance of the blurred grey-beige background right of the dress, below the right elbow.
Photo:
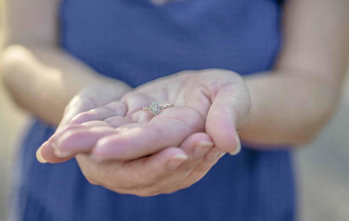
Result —
POLYGON ((349 220, 349 71, 343 83, 333 118, 295 154, 300 221, 349 220))

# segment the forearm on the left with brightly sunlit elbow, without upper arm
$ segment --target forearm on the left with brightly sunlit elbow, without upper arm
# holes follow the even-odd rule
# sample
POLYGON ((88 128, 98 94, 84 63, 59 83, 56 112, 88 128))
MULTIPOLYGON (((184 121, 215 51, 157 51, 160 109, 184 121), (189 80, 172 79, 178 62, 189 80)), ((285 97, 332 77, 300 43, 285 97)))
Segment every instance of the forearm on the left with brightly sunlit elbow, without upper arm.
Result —
POLYGON ((2 53, 0 72, 18 105, 56 125, 82 88, 95 83, 113 83, 120 90, 128 87, 53 46, 9 46, 2 53))

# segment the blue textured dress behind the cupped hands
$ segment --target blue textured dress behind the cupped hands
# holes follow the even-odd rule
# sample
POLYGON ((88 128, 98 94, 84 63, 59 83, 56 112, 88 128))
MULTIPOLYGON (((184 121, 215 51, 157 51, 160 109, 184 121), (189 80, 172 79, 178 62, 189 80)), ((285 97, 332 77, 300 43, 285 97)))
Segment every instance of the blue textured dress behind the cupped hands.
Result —
MULTIPOLYGON (((270 69, 281 44, 276 0, 65 0, 61 45, 97 72, 133 87, 187 69, 242 75, 270 69)), ((217 76, 218 77, 218 76, 217 76)), ((294 220, 288 150, 243 146, 191 187, 154 197, 92 185, 75 161, 41 164, 55 128, 36 120, 25 138, 13 205, 18 220, 294 220)))

